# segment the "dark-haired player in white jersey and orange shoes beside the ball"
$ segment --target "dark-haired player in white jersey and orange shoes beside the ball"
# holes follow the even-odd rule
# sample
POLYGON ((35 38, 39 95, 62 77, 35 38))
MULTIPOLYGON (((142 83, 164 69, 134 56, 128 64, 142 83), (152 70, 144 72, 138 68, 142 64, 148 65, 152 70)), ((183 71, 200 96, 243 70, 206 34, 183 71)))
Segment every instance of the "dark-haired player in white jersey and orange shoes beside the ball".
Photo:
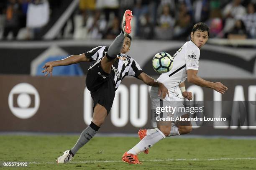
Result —
MULTIPOLYGON (((182 107, 182 96, 191 100, 191 92, 186 91, 184 81, 187 79, 189 83, 196 84, 202 87, 208 87, 224 94, 228 88, 220 82, 206 81, 197 76, 199 68, 200 48, 205 45, 209 37, 209 28, 205 23, 197 23, 193 26, 190 33, 191 40, 187 41, 177 51, 174 58, 174 65, 171 71, 161 74, 157 81, 163 83, 168 91, 169 97, 161 99, 157 96, 157 87, 152 87, 150 91, 150 98, 152 104, 152 113, 155 116, 156 109, 172 106, 182 107), (179 86, 179 87, 178 87, 179 86)), ((183 106, 184 107, 184 106, 183 106)), ((189 117, 187 113, 170 113, 163 112, 162 117, 189 117)), ((159 120, 159 119, 158 119, 159 120)), ((163 120, 163 119, 162 119, 163 120)), ((174 119, 175 120, 175 119, 174 119)), ((127 163, 138 164, 141 163, 138 160, 137 155, 140 152, 148 153, 148 148, 152 147, 156 142, 164 139, 168 136, 187 134, 191 132, 191 122, 175 122, 175 121, 156 121, 156 129, 140 129, 138 132, 141 141, 135 145, 131 150, 125 152, 122 160, 127 163)))

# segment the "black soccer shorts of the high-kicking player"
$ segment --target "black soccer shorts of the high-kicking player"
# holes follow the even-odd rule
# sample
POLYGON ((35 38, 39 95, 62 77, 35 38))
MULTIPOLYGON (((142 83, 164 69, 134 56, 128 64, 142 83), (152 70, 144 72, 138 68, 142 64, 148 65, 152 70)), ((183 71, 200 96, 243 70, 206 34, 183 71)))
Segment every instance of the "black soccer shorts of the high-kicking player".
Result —
POLYGON ((103 71, 100 61, 98 60, 90 66, 86 76, 86 86, 91 92, 93 110, 98 103, 105 107, 109 114, 115 98, 115 83, 113 75, 103 71))

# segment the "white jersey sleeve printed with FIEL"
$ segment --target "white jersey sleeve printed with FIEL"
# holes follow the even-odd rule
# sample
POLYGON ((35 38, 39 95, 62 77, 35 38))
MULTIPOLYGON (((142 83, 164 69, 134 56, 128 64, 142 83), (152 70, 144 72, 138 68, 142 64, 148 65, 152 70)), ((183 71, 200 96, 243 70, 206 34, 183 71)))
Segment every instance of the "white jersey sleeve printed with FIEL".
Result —
POLYGON ((198 70, 199 67, 200 50, 192 48, 187 50, 186 53, 186 67, 187 70, 198 70))

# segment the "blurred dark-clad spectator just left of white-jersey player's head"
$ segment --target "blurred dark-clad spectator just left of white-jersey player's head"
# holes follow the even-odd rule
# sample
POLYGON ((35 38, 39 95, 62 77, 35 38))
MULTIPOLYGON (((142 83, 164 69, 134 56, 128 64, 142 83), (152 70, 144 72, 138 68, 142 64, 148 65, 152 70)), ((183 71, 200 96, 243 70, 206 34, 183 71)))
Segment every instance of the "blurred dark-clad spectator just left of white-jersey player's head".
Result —
POLYGON ((174 38, 184 38, 189 35, 191 23, 191 15, 187 10, 184 2, 179 4, 179 13, 174 27, 174 38))

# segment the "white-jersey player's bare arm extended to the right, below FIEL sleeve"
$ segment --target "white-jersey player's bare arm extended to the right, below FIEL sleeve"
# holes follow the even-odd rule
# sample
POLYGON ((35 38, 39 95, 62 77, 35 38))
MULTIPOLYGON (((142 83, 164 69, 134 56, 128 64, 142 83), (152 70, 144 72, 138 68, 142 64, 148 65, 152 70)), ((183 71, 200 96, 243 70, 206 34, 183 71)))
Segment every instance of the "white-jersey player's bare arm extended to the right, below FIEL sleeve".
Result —
POLYGON ((228 90, 228 87, 224 86, 222 83, 217 82, 211 82, 211 81, 206 81, 202 79, 201 77, 197 76, 197 70, 187 70, 187 81, 192 84, 196 84, 197 86, 201 87, 208 87, 211 89, 214 89, 218 91, 221 94, 224 94, 225 91, 228 90))

